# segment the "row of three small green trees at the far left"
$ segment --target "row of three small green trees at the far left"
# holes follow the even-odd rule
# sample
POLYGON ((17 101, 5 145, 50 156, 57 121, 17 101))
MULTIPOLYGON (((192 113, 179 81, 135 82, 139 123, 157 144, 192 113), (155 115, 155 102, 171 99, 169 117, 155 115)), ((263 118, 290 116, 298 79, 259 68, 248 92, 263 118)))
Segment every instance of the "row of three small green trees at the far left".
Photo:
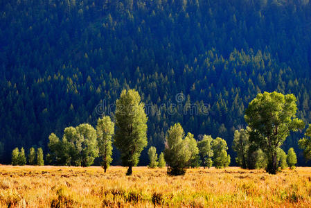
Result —
MULTIPOLYGON (((42 148, 37 149, 37 153, 35 152, 35 148, 30 148, 28 154, 28 164, 30 165, 37 165, 43 166, 44 165, 44 158, 43 158, 43 150, 42 148)), ((12 165, 13 166, 24 166, 27 163, 25 150, 24 148, 15 148, 12 150, 12 165)))

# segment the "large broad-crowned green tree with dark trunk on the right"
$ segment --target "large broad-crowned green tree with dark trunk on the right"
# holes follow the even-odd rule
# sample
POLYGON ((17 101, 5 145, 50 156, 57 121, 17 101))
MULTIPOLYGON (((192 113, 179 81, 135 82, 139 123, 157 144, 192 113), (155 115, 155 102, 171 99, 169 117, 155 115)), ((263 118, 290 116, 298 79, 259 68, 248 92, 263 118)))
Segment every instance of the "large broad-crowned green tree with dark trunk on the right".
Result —
POLYGON ((296 98, 293 94, 278 92, 258 94, 245 111, 245 121, 251 128, 251 138, 265 152, 268 159, 267 172, 276 174, 277 149, 291 131, 304 127, 296 118, 296 98))

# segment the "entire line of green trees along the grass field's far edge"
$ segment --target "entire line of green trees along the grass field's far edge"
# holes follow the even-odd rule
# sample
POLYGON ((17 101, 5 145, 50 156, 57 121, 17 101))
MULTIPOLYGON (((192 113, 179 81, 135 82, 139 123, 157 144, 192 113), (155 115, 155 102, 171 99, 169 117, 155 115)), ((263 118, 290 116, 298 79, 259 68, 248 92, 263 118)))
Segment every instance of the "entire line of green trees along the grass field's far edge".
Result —
MULTIPOLYGON (((294 148, 287 155, 280 147, 291 131, 303 130, 305 123, 296 117, 296 98, 293 94, 283 95, 278 92, 258 94, 245 111, 246 129, 236 130, 233 150, 236 151, 236 163, 242 168, 265 168, 268 173, 276 174, 278 169, 297 163, 294 148)), ((109 116, 98 119, 96 129, 88 123, 64 129, 62 140, 54 133, 48 139, 49 164, 62 166, 91 166, 100 156, 101 165, 107 171, 112 162, 112 144, 118 148, 123 166, 128 166, 127 175, 132 174, 132 166, 139 163, 141 151, 148 144, 145 104, 134 89, 121 92, 116 101, 114 112, 116 121, 109 116)), ((311 155, 311 125, 305 137, 299 140, 306 159, 311 155)), ((213 139, 203 135, 196 140, 190 132, 185 135, 180 123, 172 125, 166 132, 165 149, 160 154, 151 146, 148 150, 149 167, 168 166, 168 174, 183 175, 186 168, 215 166, 225 168, 231 163, 226 141, 220 137, 213 139)), ((29 164, 35 164, 35 149, 30 148, 29 164)), ((12 164, 26 164, 24 148, 12 151, 12 164)), ((37 151, 37 164, 43 165, 43 153, 37 151)))

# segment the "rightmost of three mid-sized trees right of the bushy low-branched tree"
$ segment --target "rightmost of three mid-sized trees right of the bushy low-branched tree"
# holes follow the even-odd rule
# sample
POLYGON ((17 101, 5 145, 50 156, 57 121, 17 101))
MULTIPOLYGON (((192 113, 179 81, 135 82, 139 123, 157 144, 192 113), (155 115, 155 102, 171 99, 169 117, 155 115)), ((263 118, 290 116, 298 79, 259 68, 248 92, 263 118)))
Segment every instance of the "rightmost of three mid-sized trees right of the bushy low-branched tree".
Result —
POLYGON ((214 152, 214 165, 216 168, 224 168, 229 166, 231 157, 226 153, 228 146, 226 141, 220 137, 217 137, 212 142, 213 152, 214 152))

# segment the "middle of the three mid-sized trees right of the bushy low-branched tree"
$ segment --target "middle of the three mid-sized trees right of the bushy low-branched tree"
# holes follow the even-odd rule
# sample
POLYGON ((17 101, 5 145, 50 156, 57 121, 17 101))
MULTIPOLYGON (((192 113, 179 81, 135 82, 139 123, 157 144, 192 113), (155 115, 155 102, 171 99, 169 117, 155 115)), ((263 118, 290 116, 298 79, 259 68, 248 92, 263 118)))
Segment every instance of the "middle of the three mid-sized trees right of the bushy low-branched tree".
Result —
POLYGON ((214 155, 211 143, 213 138, 210 135, 204 135, 201 141, 197 142, 199 148, 199 156, 201 157, 204 168, 213 166, 212 157, 214 155))

